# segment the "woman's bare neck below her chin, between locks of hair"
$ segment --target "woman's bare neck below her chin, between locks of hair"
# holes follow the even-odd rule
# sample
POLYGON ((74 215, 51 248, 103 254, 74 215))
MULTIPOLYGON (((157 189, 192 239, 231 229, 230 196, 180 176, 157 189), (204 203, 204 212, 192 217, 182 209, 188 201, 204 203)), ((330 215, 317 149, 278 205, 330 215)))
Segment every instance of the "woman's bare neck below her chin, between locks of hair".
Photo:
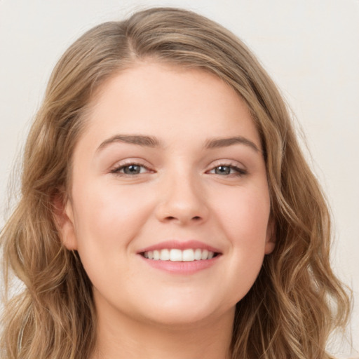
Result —
POLYGON ((90 359, 229 359, 234 309, 219 318, 180 325, 144 323, 97 313, 97 348, 90 359))

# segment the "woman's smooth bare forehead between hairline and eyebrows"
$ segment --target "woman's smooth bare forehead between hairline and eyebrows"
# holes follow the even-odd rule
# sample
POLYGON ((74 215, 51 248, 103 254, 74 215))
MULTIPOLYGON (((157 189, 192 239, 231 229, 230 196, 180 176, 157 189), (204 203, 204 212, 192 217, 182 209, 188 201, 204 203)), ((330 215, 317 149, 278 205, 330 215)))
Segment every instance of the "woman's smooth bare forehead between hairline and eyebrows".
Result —
POLYGON ((87 135, 109 137, 116 131, 172 140, 245 134, 260 147, 248 107, 222 79, 156 62, 111 76, 91 101, 87 135))

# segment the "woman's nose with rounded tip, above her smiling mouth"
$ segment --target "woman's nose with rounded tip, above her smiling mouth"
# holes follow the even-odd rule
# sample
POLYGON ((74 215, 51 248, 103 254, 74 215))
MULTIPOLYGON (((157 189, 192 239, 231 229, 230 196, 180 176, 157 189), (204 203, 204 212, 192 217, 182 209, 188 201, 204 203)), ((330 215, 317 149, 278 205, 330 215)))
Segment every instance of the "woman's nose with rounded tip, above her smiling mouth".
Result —
POLYGON ((156 217, 160 222, 200 224, 208 219, 205 193, 193 176, 171 176, 161 183, 156 217))

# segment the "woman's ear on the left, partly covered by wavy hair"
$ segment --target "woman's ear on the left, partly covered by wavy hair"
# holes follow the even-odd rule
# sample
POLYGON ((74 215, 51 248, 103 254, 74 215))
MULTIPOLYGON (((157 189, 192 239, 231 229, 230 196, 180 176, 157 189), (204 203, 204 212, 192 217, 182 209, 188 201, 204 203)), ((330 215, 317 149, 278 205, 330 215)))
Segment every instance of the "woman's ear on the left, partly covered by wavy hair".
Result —
POLYGON ((63 245, 68 250, 77 250, 76 231, 74 226, 74 211, 67 196, 57 194, 53 198, 54 217, 57 231, 63 245))

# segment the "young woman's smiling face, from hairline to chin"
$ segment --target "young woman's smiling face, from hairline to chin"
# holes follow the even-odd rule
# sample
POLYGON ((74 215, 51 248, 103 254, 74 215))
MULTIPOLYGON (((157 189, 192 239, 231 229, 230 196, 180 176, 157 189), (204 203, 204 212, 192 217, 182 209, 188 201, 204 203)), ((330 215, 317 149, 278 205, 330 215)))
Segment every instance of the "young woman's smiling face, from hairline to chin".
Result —
POLYGON ((111 78, 76 145, 62 237, 100 316, 227 316, 273 250, 261 143, 216 76, 142 63, 111 78))

